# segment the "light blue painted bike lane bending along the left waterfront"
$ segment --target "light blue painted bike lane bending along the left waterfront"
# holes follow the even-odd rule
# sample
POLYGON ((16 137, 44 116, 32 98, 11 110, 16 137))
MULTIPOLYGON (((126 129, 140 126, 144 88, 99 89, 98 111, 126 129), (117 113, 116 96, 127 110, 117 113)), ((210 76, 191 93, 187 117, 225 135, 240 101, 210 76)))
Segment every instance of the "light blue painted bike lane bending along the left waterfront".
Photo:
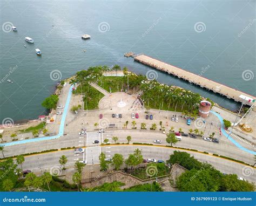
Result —
POLYGON ((59 133, 57 135, 43 136, 42 138, 33 138, 33 139, 28 139, 28 140, 8 142, 8 143, 0 144, 0 145, 1 146, 4 145, 5 147, 7 147, 7 146, 20 145, 20 144, 29 143, 29 142, 39 142, 39 141, 44 141, 44 140, 53 140, 53 139, 60 138, 60 136, 62 136, 64 134, 65 120, 66 120, 66 115, 68 114, 68 111, 69 111, 69 103, 70 103, 70 99, 71 99, 71 95, 72 95, 72 88, 73 88, 73 86, 71 86, 69 89, 68 98, 66 99, 64 111, 62 113, 62 120, 60 121, 60 125, 59 125, 59 133))

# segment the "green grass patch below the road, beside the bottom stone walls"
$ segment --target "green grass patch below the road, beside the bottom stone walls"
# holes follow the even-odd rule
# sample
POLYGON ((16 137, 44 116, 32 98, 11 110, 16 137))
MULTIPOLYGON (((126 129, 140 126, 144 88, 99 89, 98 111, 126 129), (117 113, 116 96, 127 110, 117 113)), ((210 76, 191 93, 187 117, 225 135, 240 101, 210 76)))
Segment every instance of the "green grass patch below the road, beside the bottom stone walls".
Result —
MULTIPOLYGON (((166 167, 164 163, 150 163, 150 164, 147 164, 147 167, 150 167, 150 166, 157 167, 157 174, 152 176, 152 177, 159 177, 159 176, 170 174, 169 168, 166 167)), ((136 169, 135 172, 133 170, 131 175, 136 176, 136 177, 140 178, 141 180, 145 180, 147 178, 150 178, 150 176, 147 176, 146 168, 136 169)))

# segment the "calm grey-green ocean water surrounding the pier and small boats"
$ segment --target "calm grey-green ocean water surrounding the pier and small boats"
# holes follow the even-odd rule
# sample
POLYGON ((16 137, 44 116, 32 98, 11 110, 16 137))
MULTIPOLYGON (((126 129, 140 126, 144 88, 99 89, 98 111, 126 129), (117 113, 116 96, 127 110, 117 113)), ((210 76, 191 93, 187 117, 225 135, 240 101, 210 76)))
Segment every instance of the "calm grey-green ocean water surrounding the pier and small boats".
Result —
MULTIPOLYGON (((45 113, 41 102, 57 81, 89 66, 119 64, 142 74, 152 70, 125 58, 127 51, 143 52, 255 96, 253 0, 6 0, 0 2, 0 17, 0 121, 36 119, 45 113), (18 31, 9 32, 10 25, 18 31), (83 34, 91 39, 82 40, 83 34)), ((198 92, 225 108, 239 106, 170 75, 156 75, 161 83, 198 92)))

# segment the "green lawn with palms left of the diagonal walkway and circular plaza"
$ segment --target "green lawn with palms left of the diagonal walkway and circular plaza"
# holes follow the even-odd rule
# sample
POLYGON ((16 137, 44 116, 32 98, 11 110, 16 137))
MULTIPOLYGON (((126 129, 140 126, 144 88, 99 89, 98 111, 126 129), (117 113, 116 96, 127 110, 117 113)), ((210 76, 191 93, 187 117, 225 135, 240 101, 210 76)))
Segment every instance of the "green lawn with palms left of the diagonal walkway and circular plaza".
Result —
MULTIPOLYGON (((78 86, 76 91, 73 92, 74 94, 81 93, 81 87, 78 86)), ((104 97, 104 94, 96 90, 96 88, 88 85, 82 86, 82 93, 85 94, 84 99, 84 110, 86 109, 98 109, 99 108, 99 100, 104 97), (87 104, 87 107, 86 107, 87 104)))

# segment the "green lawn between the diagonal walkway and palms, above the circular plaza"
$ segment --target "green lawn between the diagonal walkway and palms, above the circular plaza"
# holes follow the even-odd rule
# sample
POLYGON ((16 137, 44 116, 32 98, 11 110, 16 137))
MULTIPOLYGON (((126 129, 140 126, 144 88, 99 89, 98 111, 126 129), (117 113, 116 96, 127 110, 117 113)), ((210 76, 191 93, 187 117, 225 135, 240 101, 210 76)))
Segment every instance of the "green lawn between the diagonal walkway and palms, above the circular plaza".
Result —
POLYGON ((107 92, 120 92, 123 88, 125 90, 127 82, 124 80, 124 77, 112 76, 112 77, 103 77, 101 81, 98 81, 98 85, 107 92))

